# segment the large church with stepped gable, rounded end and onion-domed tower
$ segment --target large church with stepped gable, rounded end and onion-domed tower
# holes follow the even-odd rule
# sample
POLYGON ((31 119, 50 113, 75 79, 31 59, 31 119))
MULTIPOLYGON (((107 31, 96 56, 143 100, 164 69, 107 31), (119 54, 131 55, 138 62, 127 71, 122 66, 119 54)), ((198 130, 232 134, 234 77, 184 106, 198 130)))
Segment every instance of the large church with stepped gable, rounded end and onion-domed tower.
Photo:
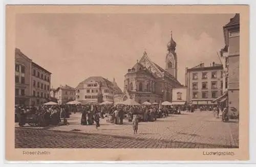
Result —
POLYGON ((173 88, 182 85, 177 80, 176 42, 171 35, 167 44, 165 69, 157 65, 144 52, 142 58, 124 76, 124 92, 120 101, 128 98, 138 103, 172 102, 173 88))

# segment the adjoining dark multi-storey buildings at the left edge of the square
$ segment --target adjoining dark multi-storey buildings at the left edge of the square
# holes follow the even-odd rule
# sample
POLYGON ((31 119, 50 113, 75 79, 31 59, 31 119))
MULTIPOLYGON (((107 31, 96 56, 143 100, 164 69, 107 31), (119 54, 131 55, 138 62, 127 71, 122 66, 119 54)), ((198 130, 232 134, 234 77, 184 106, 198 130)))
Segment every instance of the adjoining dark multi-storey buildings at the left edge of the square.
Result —
POLYGON ((15 49, 15 104, 39 105, 49 102, 51 73, 15 49))

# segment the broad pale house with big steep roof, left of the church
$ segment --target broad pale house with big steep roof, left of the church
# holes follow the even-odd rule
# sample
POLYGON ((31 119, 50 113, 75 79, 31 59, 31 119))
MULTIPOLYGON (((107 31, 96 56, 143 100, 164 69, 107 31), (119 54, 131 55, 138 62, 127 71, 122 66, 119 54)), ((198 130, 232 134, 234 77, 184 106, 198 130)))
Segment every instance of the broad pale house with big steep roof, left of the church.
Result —
POLYGON ((103 77, 89 77, 80 82, 76 89, 76 100, 85 104, 89 101, 98 102, 101 85, 101 94, 103 101, 115 102, 115 97, 122 93, 122 90, 118 87, 115 79, 113 82, 103 77))

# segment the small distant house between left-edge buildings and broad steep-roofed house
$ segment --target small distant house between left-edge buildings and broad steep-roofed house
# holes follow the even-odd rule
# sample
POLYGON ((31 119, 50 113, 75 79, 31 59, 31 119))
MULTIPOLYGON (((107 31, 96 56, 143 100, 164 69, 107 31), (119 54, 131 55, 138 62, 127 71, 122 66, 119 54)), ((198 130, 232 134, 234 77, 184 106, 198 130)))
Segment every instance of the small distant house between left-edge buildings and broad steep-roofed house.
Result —
POLYGON ((69 101, 75 100, 76 90, 68 85, 60 85, 56 89, 51 89, 51 97, 57 99, 59 105, 63 105, 69 101))

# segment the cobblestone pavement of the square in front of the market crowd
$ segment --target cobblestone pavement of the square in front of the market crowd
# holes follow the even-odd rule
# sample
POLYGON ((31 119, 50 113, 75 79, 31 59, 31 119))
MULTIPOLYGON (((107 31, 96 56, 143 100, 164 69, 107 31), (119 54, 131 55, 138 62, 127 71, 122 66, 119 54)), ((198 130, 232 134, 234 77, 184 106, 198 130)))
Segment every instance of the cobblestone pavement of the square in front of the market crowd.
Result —
POLYGON ((239 123, 223 123, 210 111, 171 115, 156 122, 81 126, 72 114, 69 126, 15 128, 15 148, 238 148, 239 123))

